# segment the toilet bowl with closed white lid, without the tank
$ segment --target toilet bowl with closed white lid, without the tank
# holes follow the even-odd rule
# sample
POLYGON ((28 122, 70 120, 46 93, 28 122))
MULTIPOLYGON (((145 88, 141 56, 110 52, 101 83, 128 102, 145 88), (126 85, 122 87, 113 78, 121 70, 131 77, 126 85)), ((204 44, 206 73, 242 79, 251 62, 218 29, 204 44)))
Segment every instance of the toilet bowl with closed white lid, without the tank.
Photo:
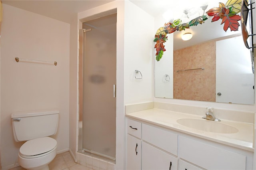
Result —
POLYGON ((28 140, 20 147, 18 162, 28 170, 49 170, 56 156, 57 141, 50 137, 28 140))

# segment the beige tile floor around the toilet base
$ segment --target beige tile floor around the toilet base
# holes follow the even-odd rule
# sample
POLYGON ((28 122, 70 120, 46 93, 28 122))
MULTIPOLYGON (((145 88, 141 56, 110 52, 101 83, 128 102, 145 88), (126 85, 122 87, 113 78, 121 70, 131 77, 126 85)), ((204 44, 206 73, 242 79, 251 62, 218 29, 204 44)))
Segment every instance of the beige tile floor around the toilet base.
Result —
MULTIPOLYGON (((69 152, 57 154, 54 160, 48 165, 50 170, 92 170, 86 166, 74 162, 69 152)), ((10 170, 25 170, 21 166, 12 168, 10 170)))

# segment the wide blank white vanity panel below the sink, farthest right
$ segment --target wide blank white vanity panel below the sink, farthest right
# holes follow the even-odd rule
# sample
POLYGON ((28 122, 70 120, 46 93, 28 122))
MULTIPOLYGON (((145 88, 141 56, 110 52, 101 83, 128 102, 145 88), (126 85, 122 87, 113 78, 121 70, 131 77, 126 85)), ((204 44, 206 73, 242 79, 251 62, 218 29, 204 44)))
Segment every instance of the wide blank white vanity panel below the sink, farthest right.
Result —
POLYGON ((180 158, 208 170, 245 170, 246 156, 179 136, 180 158))

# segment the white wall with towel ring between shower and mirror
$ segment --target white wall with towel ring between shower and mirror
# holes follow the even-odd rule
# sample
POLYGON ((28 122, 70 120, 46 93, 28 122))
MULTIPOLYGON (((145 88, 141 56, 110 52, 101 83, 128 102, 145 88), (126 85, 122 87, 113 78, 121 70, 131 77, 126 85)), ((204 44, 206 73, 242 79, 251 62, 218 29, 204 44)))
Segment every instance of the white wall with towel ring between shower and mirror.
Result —
POLYGON ((130 1, 124 8, 124 104, 152 101, 154 18, 130 1))

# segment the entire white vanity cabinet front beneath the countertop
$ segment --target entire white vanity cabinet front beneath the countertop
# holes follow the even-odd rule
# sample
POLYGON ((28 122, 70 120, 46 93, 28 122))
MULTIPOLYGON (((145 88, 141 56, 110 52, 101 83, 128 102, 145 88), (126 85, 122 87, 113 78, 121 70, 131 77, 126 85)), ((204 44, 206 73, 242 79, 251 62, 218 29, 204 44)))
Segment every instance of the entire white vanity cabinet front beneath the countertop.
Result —
POLYGON ((249 150, 128 119, 128 170, 250 170, 252 162, 249 150))

